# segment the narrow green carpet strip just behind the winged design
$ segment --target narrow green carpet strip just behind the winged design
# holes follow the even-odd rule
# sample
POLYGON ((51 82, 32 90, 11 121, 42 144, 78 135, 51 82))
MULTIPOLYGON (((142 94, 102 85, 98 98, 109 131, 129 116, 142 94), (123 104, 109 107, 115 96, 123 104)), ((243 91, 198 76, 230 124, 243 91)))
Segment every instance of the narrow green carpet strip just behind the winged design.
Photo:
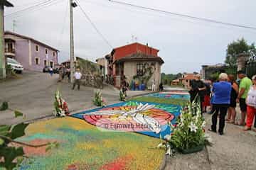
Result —
POLYGON ((129 101, 144 101, 144 102, 152 102, 152 103, 174 104, 179 106, 186 106, 189 102, 188 100, 184 100, 184 99, 155 98, 151 96, 135 97, 135 98, 131 98, 129 101))

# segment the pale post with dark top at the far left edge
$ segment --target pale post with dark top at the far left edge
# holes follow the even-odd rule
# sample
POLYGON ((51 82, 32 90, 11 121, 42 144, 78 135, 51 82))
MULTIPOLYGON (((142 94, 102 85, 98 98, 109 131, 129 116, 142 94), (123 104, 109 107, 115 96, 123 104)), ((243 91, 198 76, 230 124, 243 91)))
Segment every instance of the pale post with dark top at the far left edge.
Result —
POLYGON ((4 56, 4 6, 14 6, 9 1, 0 1, 0 79, 6 78, 6 59, 4 56))

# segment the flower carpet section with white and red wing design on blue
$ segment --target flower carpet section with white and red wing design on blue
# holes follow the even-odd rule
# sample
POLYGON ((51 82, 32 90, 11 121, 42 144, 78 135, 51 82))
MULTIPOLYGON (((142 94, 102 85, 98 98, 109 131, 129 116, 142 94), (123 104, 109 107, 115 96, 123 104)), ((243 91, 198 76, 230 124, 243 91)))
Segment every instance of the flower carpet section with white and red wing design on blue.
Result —
POLYGON ((105 130, 139 132, 151 137, 170 134, 181 106, 129 101, 72 115, 105 130))

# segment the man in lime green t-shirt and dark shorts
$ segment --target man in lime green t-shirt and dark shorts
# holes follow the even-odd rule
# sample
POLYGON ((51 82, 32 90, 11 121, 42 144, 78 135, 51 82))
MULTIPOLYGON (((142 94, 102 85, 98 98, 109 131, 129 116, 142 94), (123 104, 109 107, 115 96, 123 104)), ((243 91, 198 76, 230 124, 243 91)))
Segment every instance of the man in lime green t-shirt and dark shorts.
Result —
POLYGON ((247 105, 245 103, 245 98, 247 98, 250 86, 252 86, 252 81, 246 76, 245 72, 242 70, 238 71, 238 78, 240 79, 239 93, 236 102, 240 105, 241 119, 235 125, 245 125, 245 116, 247 113, 247 105))

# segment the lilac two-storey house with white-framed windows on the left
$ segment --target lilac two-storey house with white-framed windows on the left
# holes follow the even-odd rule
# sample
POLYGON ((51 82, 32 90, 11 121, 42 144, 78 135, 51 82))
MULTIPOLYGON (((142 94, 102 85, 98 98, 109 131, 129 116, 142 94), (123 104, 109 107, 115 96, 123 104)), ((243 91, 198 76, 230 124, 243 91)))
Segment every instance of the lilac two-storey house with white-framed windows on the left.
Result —
POLYGON ((20 62, 24 69, 42 72, 43 67, 58 64, 58 50, 24 35, 4 33, 5 56, 20 62))

